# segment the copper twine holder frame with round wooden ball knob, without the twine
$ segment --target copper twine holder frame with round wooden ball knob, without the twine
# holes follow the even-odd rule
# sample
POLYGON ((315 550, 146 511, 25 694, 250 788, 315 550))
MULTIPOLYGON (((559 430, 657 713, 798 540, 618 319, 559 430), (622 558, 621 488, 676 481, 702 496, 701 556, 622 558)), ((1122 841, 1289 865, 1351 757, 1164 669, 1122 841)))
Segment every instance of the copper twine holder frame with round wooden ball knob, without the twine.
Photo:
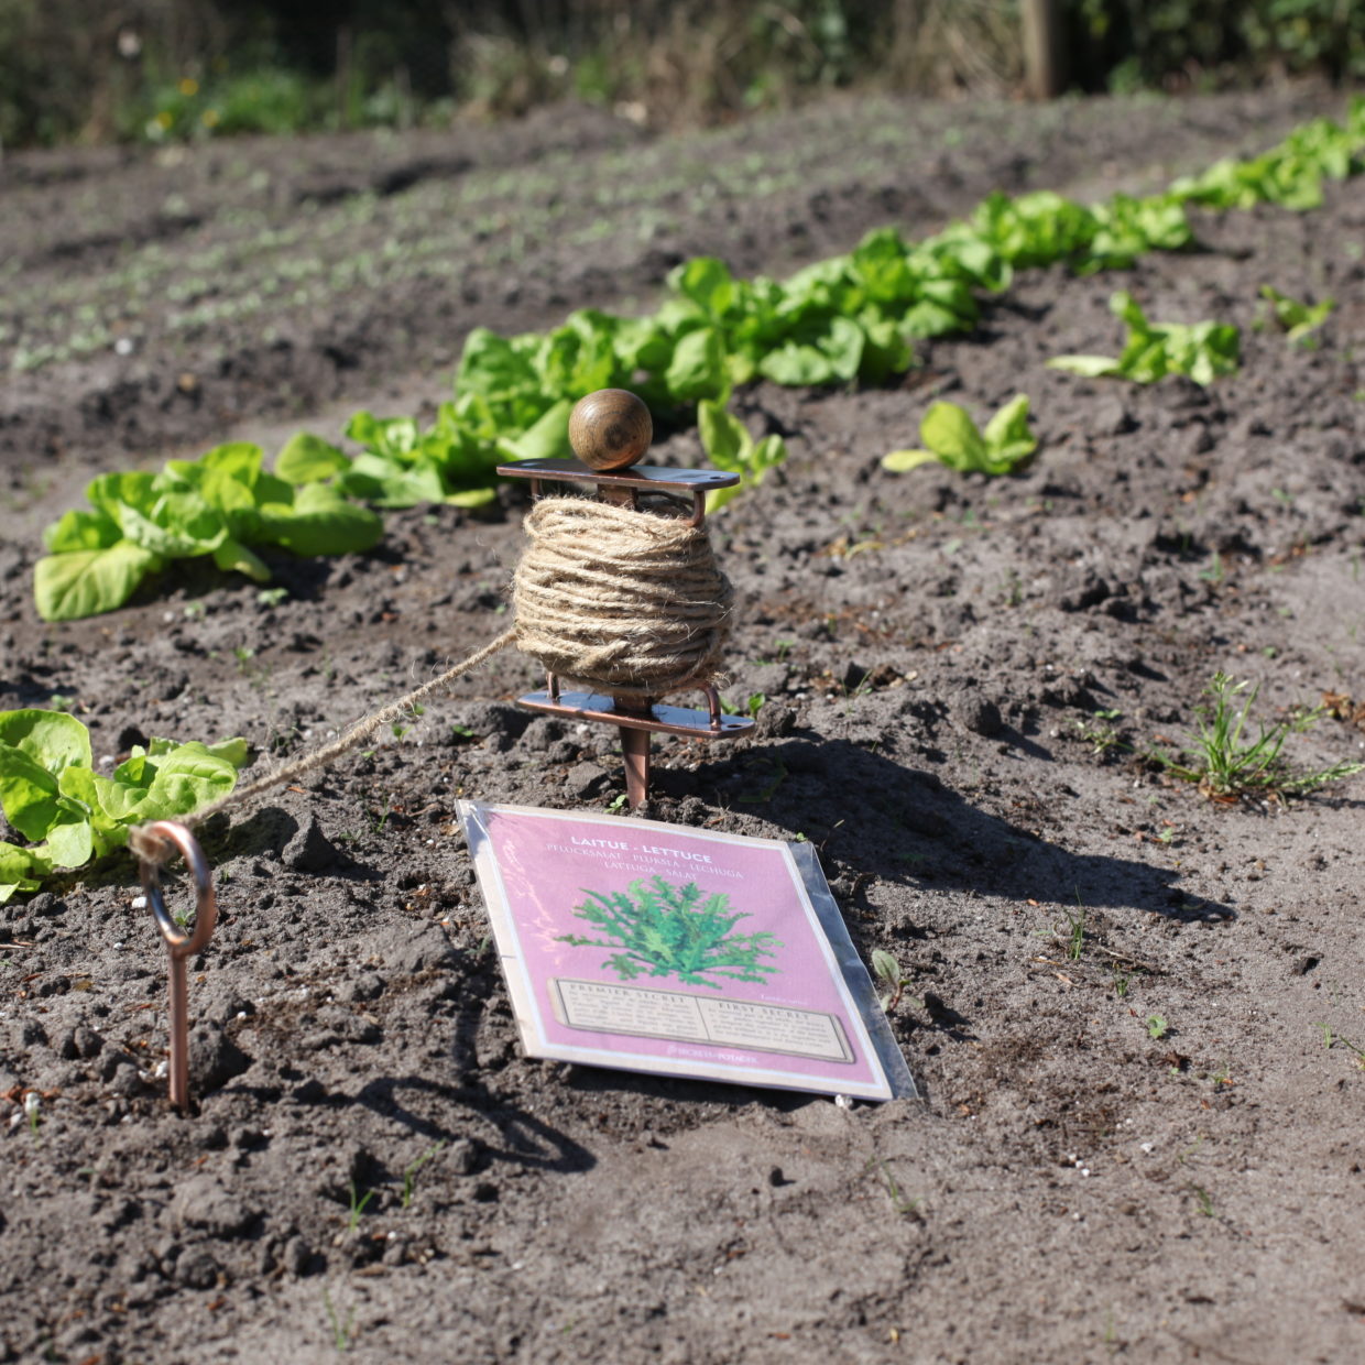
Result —
MULTIPOLYGON (((691 498, 692 516, 687 524, 700 527, 706 519, 707 493, 733 487, 740 476, 718 470, 669 470, 637 464, 652 435, 650 410, 640 399, 625 389, 598 389, 580 399, 569 415, 569 445, 576 460, 519 460, 515 464, 500 464, 497 472, 509 479, 530 479, 532 498, 539 497, 545 480, 592 483, 603 502, 628 508, 639 506, 640 493, 691 498)), ((632 693, 561 693, 560 680, 550 673, 543 692, 530 692, 519 698, 517 704, 564 719, 616 725, 625 762, 627 804, 633 811, 648 796, 651 733, 723 740, 753 728, 749 717, 721 714, 714 687, 702 691, 707 699, 706 711, 663 706, 652 698, 632 693)))

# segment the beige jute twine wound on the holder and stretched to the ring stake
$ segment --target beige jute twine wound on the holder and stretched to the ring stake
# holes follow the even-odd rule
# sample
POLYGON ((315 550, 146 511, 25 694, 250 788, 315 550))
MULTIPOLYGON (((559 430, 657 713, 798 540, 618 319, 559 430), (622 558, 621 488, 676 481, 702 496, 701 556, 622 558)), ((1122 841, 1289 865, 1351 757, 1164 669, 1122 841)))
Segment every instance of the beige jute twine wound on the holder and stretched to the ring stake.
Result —
MULTIPOLYGON (((511 629, 339 738, 179 823, 202 824, 329 767, 511 644, 571 684, 621 695, 658 698, 715 680, 734 594, 704 530, 680 517, 565 497, 536 502, 526 531, 531 545, 512 579, 511 629)), ((175 853, 143 826, 130 831, 128 848, 152 864, 175 853)))

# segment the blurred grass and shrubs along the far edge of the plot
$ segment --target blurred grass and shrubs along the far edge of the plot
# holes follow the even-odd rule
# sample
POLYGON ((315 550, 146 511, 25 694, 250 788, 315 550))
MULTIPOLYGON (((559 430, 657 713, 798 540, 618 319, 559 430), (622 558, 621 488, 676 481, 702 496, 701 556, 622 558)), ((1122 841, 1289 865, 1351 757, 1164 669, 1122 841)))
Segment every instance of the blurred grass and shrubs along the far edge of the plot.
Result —
MULTIPOLYGON (((1058 0, 1070 85, 1365 78, 1358 0, 1058 0)), ((577 98, 658 127, 830 87, 1006 96, 1020 0, 0 0, 0 145, 411 127, 577 98)))

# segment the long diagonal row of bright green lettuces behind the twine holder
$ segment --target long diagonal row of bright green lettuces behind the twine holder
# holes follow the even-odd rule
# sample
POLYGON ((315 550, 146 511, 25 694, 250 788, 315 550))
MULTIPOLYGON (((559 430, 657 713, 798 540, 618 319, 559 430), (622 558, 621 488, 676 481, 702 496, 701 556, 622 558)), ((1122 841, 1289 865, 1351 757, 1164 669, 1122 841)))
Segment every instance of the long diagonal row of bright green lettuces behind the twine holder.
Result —
MULTIPOLYGON (((777 438, 752 441, 725 411, 737 385, 883 382, 913 364, 917 341, 971 330, 980 299, 1009 288, 1016 270, 1127 266, 1147 251, 1189 247, 1190 205, 1310 209, 1324 180, 1362 168, 1365 98, 1357 98, 1342 123, 1316 119, 1259 157, 1219 161, 1159 195, 1085 206, 1046 191, 992 194, 921 242, 882 228, 786 281, 736 278, 723 262, 699 257, 670 274, 666 302, 650 317, 584 308, 549 333, 504 337, 480 328, 465 343, 453 400, 426 429, 412 418, 358 412, 344 434, 359 453, 300 434, 273 472, 259 448, 225 445, 195 461, 172 460, 160 474, 94 479, 89 509, 45 532, 37 607, 49 621, 109 612, 169 561, 199 556, 265 581, 262 547, 359 551, 384 534, 375 508, 489 502, 500 463, 569 455, 569 411, 594 389, 633 389, 674 422, 695 407, 713 463, 752 482, 784 452, 777 438)), ((1126 296, 1115 304, 1149 343, 1155 325, 1137 304, 1126 296)), ((1196 341, 1212 356, 1200 362, 1207 382, 1235 364, 1235 332, 1204 326, 1196 341)), ((1167 334, 1167 351, 1170 343, 1167 334)), ((1143 344, 1130 336, 1130 348, 1143 344)), ((1134 363, 1136 351, 1126 364, 1069 359, 1081 373, 1152 373, 1134 363)))

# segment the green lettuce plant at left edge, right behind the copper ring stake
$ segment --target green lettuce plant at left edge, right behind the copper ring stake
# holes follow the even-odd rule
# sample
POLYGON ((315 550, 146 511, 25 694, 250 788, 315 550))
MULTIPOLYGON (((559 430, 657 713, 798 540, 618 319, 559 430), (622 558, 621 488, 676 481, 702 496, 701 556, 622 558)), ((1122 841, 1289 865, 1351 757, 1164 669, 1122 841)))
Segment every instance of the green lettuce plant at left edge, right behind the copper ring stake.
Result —
POLYGON ((0 809, 29 845, 0 839, 0 904, 37 890, 56 868, 83 867, 147 820, 188 815, 227 796, 246 740, 134 745, 109 777, 91 763, 90 732, 61 711, 0 711, 0 809))

